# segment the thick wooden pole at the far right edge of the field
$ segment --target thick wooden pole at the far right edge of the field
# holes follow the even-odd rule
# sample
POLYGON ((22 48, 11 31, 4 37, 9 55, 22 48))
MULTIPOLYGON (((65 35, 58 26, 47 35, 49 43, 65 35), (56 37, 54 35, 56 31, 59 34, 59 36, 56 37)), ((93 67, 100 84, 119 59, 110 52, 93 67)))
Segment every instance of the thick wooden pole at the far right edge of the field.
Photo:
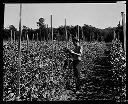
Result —
POLYGON ((124 35, 124 51, 126 52, 126 24, 125 24, 125 14, 121 12, 122 15, 122 26, 123 26, 123 35, 124 35))

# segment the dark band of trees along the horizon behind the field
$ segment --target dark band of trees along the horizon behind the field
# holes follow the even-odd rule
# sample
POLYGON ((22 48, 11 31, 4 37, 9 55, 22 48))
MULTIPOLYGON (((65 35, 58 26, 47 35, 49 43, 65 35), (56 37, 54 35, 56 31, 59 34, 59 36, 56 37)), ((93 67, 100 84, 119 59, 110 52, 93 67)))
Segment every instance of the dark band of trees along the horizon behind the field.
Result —
MULTIPOLYGON (((44 23, 44 18, 40 18, 37 22, 37 26, 39 28, 32 29, 26 26, 22 27, 22 36, 21 40, 35 40, 35 41, 48 41, 52 40, 51 27, 48 27, 47 24, 44 23)), ((99 29, 93 27, 91 25, 84 24, 84 26, 66 26, 67 30, 67 40, 71 37, 78 37, 79 39, 87 42, 92 41, 104 41, 104 42, 112 42, 114 39, 114 31, 116 34, 116 38, 119 39, 123 43, 123 27, 120 23, 117 27, 108 27, 105 29, 99 29), (79 29, 79 32, 78 32, 79 29)), ((13 25, 10 25, 9 28, 4 28, 3 40, 17 40, 19 37, 19 31, 13 25)), ((53 40, 65 41, 66 40, 66 32, 65 26, 61 25, 58 28, 53 28, 53 40)))

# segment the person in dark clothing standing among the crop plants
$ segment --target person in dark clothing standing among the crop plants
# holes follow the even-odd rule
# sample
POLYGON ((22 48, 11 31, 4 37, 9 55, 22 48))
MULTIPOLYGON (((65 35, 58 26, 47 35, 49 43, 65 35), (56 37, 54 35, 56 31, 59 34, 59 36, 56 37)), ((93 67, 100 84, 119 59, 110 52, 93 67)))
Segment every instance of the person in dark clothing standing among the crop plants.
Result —
POLYGON ((68 52, 70 52, 70 54, 73 56, 73 72, 74 72, 74 77, 76 79, 76 91, 79 92, 80 90, 80 68, 78 66, 80 66, 79 64, 81 62, 83 47, 80 46, 80 43, 76 38, 73 38, 72 42, 75 48, 74 50, 68 49, 68 52))

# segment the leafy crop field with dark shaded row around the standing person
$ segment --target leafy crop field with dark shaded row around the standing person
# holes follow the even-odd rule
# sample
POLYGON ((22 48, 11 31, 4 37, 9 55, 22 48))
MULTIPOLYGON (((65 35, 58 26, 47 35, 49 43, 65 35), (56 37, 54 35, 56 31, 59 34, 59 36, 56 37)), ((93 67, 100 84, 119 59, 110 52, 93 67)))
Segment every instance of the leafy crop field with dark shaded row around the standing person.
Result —
MULTIPOLYGON (((125 65, 126 59, 121 66, 118 66, 121 69, 123 67, 123 71, 115 69, 112 64, 114 62, 112 48, 108 51, 105 44, 98 42, 81 42, 81 44, 84 49, 80 69, 81 93, 76 94, 73 92, 75 83, 72 70, 63 69, 64 60, 67 58, 63 51, 66 42, 54 41, 52 44, 52 42, 30 41, 29 47, 26 42, 22 42, 21 101, 124 100, 125 98, 120 95, 123 93, 122 86, 125 86, 125 81, 122 79, 126 66, 122 65, 125 65), (67 80, 70 80, 70 90, 66 89, 67 80)), ((74 48, 71 42, 68 45, 69 48, 74 48)), ((16 43, 4 42, 3 62, 3 101, 15 101, 18 70, 16 43)))

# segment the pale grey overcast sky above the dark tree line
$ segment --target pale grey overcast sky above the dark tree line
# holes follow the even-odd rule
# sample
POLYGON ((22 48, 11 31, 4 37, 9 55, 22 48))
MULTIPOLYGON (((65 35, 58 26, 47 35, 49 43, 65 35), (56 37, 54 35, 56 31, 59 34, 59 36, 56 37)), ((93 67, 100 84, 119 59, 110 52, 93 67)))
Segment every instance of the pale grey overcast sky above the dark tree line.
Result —
MULTIPOLYGON (((4 27, 19 26, 19 4, 5 4, 4 27)), ((64 25, 92 25, 97 28, 115 27, 121 21, 121 12, 126 14, 123 3, 31 3, 22 4, 22 26, 37 28, 36 22, 43 17, 50 26, 53 15, 53 27, 64 25)))

